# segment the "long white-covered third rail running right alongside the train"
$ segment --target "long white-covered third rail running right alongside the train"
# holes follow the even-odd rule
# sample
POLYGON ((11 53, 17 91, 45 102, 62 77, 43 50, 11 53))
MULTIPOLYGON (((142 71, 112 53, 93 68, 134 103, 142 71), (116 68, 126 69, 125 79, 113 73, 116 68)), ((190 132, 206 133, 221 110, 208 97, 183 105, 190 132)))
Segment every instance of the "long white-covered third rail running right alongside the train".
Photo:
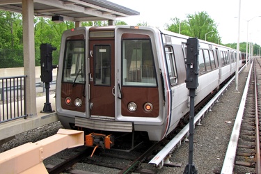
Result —
MULTIPOLYGON (((242 72, 244 70, 245 66, 241 68, 239 72, 242 72)), ((224 91, 230 86, 232 81, 235 79, 235 76, 228 81, 228 83, 219 90, 218 93, 210 100, 204 107, 201 109, 198 114, 194 117, 194 125, 196 122, 200 120, 200 118, 203 118, 205 116, 205 113, 209 111, 209 109, 212 108, 213 104, 219 100, 219 97, 224 93, 224 91)), ((189 124, 187 124, 165 147, 155 155, 150 161, 149 164, 153 164, 154 166, 159 166, 161 168, 164 166, 164 159, 168 156, 168 154, 175 148, 175 146, 180 143, 184 136, 188 134, 189 132, 189 124)))

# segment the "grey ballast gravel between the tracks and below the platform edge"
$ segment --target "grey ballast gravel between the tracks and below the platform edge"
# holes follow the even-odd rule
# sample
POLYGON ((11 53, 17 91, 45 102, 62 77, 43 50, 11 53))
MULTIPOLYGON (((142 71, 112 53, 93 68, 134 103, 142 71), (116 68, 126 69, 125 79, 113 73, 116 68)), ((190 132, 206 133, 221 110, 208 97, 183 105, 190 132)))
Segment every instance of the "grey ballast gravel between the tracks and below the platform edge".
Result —
MULTIPOLYGON (((213 173, 213 171, 221 171, 223 159, 226 155, 228 142, 232 127, 237 116, 237 109, 240 104, 246 78, 248 76, 250 65, 248 68, 239 74, 238 91, 235 91, 235 81, 228 88, 228 90, 212 107, 212 111, 205 115, 205 118, 200 122, 200 126, 194 129, 194 143, 193 143, 193 164, 196 166, 198 173, 213 173)), ((54 122, 38 129, 33 129, 29 132, 19 134, 8 143, 2 145, 1 150, 6 151, 18 145, 27 142, 35 142, 40 139, 45 139, 48 136, 56 134, 58 129, 62 128, 60 122, 54 122)), ((59 161, 55 157, 48 158, 45 163, 53 163, 59 161)), ((189 143, 182 142, 171 156, 171 161, 181 163, 181 167, 163 167, 157 169, 157 173, 173 174, 184 173, 184 168, 189 161, 189 143)), ((110 161, 111 162, 111 161, 110 161)), ((142 164, 144 168, 152 169, 151 164, 142 164)), ((90 171, 90 173, 118 173, 119 171, 112 168, 103 168, 100 166, 93 166, 88 164, 77 164, 75 169, 90 171)))

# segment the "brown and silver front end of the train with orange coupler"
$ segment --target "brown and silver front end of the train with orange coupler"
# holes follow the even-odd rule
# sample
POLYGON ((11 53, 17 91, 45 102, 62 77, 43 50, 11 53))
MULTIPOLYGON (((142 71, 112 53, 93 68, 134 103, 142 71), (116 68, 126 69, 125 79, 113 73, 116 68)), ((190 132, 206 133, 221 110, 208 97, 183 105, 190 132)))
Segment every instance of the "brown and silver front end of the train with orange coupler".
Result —
POLYGON ((134 132, 159 141, 167 132, 160 33, 142 28, 81 27, 63 34, 58 118, 67 129, 84 129, 88 145, 134 132))

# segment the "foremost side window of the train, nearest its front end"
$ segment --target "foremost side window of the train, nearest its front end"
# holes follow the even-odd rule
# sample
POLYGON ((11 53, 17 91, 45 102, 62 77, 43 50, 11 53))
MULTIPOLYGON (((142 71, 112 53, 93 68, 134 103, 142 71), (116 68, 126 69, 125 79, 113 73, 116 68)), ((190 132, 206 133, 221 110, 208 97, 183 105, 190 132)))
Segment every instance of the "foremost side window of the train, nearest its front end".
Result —
POLYGON ((171 47, 165 47, 165 55, 168 66, 168 77, 171 81, 171 85, 177 84, 177 70, 175 66, 173 49, 171 47))

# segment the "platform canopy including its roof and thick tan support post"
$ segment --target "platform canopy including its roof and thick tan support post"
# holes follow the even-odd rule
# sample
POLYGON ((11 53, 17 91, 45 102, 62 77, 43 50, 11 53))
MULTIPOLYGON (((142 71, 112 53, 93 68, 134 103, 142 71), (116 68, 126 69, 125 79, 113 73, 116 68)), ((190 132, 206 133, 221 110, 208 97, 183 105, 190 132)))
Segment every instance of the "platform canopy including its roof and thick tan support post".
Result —
POLYGON ((75 27, 81 22, 104 21, 115 24, 117 17, 140 13, 106 0, 0 0, 0 10, 22 13, 24 47, 24 75, 26 75, 26 115, 38 116, 35 93, 35 41, 34 16, 52 17, 56 22, 72 21, 75 27))

